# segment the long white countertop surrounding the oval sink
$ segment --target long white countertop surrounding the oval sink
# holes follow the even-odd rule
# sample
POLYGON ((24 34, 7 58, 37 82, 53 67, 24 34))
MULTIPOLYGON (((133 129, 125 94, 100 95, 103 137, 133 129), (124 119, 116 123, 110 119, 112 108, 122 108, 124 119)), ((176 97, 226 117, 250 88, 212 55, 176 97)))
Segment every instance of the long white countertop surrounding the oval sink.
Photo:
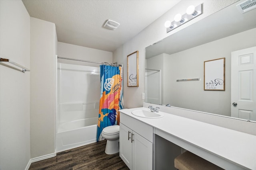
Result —
POLYGON ((200 149, 215 154, 228 162, 245 169, 256 170, 256 136, 216 125, 164 113, 161 118, 138 117, 132 110, 145 107, 122 109, 120 112, 146 123, 160 131, 186 141, 200 149))

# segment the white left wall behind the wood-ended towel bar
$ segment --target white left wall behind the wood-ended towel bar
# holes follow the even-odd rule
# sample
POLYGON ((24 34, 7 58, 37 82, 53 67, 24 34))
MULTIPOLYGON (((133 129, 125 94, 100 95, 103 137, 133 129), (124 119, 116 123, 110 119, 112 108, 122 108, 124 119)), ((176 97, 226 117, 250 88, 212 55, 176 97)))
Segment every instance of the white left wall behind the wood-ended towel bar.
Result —
MULTIPOLYGON (((30 68, 30 16, 21 0, 0 0, 0 24, 0 57, 30 68)), ((29 102, 30 72, 0 64, 1 170, 24 170, 30 160, 29 102)))

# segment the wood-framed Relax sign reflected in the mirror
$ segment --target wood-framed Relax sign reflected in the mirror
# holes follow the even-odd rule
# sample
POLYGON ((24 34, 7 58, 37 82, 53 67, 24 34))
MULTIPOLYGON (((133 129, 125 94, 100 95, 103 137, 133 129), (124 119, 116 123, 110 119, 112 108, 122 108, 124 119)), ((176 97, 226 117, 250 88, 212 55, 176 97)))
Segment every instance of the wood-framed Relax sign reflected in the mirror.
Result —
POLYGON ((225 91, 225 58, 204 61, 204 90, 225 91))

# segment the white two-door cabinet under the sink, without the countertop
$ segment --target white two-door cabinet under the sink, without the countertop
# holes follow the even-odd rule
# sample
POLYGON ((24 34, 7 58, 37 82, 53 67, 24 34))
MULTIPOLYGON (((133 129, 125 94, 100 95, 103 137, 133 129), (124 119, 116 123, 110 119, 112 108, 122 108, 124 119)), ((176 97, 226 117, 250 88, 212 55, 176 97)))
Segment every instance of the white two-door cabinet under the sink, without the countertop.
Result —
POLYGON ((152 170, 153 127, 120 114, 119 155, 131 170, 152 170))

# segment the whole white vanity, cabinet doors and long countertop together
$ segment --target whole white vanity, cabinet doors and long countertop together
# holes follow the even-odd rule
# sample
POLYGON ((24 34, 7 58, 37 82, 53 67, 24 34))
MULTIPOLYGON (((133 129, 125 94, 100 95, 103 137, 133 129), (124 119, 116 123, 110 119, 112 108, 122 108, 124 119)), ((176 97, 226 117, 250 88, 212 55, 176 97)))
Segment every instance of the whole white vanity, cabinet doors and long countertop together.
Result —
POLYGON ((255 133, 236 131, 233 126, 255 129, 256 123, 163 106, 160 106, 162 110, 167 111, 162 113, 163 117, 150 119, 132 114, 134 110, 149 110, 148 105, 143 106, 120 110, 120 157, 130 169, 170 170, 169 162, 174 162, 176 151, 177 155, 180 152, 178 145, 226 170, 256 170, 255 133), (196 119, 188 118, 193 116, 196 119), (215 122, 215 125, 200 121, 210 118, 223 123, 215 122), (229 125, 226 127, 225 123, 229 125), (134 140, 132 142, 128 140, 129 132, 134 134, 129 135, 134 140))

